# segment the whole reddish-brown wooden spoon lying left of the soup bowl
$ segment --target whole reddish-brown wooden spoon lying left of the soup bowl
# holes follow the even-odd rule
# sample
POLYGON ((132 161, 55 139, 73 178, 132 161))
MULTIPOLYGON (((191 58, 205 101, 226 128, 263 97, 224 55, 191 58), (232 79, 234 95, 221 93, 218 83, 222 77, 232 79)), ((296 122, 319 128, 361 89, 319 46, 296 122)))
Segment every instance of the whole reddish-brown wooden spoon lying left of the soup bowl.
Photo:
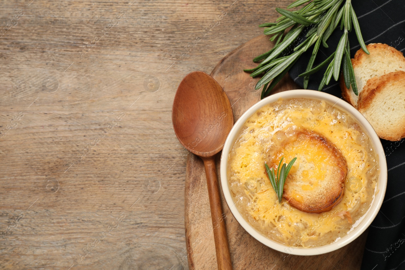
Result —
POLYGON ((233 113, 228 97, 207 73, 191 72, 177 88, 172 121, 181 144, 203 159, 218 269, 232 270, 215 168, 215 155, 224 147, 233 126, 233 113))

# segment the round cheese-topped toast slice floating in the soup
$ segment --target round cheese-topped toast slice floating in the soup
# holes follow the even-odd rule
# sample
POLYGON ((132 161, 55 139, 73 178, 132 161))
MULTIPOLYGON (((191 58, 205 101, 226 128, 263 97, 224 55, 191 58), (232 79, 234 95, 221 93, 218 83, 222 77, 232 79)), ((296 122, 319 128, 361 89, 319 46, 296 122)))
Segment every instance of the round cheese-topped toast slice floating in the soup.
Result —
MULTIPOLYGON (((285 162, 297 157, 284 185, 283 197, 301 211, 320 213, 333 208, 343 196, 345 158, 326 138, 310 131, 291 136, 276 155, 285 162)), ((278 163, 277 163, 278 165, 278 163)))

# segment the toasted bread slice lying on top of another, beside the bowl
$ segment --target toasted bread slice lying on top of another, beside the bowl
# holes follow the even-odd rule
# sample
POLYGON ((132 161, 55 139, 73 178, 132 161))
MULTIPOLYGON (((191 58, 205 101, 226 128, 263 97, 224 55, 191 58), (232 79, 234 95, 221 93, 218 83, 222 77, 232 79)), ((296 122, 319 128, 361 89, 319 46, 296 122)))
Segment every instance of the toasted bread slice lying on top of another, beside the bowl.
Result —
POLYGON ((385 140, 405 138, 405 72, 370 79, 360 94, 358 110, 385 140))

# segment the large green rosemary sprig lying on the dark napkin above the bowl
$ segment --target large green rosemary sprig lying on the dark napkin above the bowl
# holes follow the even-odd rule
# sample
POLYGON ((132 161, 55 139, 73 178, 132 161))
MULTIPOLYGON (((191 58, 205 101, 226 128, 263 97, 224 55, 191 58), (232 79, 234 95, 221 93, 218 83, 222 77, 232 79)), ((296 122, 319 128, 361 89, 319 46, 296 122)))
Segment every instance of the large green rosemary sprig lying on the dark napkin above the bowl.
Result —
POLYGON ((270 51, 254 58, 254 62, 260 62, 256 68, 245 70, 252 72, 250 76, 256 77, 262 75, 262 78, 256 84, 255 89, 263 87, 261 98, 270 94, 271 89, 281 80, 281 78, 290 70, 298 58, 315 44, 307 69, 300 77, 304 77, 304 88, 307 89, 309 76, 322 67, 328 65, 326 72, 320 82, 318 91, 321 91, 324 85, 328 85, 330 80, 339 79, 341 66, 343 65, 343 77, 347 88, 352 87, 354 94, 358 95, 356 79, 354 77, 352 61, 350 60, 350 46, 347 32, 353 28, 356 32, 357 40, 363 51, 369 54, 369 51, 364 44, 363 37, 360 32, 356 13, 352 6, 352 0, 296 0, 290 4, 287 9, 306 4, 298 11, 288 11, 277 8, 276 11, 280 16, 274 23, 263 23, 259 27, 266 27, 264 34, 274 34, 271 40, 277 41, 275 46, 270 51), (343 4, 343 5, 342 5, 343 4), (330 55, 324 62, 313 67, 315 58, 318 54, 320 44, 328 47, 326 41, 333 31, 337 28, 340 22, 340 28, 343 30, 343 35, 339 40, 336 51, 330 55), (291 27, 291 30, 283 36, 284 30, 291 27), (309 30, 305 30, 307 39, 298 46, 294 46, 297 38, 306 26, 309 30), (292 53, 290 48, 294 47, 292 53), (273 80, 273 81, 272 81, 273 80), (270 83, 270 81, 272 81, 270 83))

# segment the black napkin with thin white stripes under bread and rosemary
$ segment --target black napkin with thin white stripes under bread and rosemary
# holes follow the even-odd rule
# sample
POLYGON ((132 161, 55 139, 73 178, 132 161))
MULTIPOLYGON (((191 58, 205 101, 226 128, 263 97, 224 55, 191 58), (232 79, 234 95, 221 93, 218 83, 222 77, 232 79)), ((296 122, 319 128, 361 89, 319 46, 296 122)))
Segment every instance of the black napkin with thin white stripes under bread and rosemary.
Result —
MULTIPOLYGON (((404 0, 356 0, 352 1, 352 5, 366 44, 386 43, 401 52, 405 51, 404 0)), ((329 48, 321 45, 315 65, 335 51, 341 35, 342 32, 337 29, 328 39, 329 48)), ((360 49, 354 31, 349 33, 349 40, 353 57, 360 49)), ((304 53, 289 72, 290 77, 301 87, 303 78, 298 77, 298 74, 307 68, 311 52, 310 49, 304 53)), ((318 89, 325 70, 326 67, 311 75, 308 89, 318 89)), ((339 84, 333 79, 322 91, 341 97, 339 84)), ((388 185, 381 210, 369 229, 362 270, 405 269, 405 139, 381 142, 388 165, 388 185)))

